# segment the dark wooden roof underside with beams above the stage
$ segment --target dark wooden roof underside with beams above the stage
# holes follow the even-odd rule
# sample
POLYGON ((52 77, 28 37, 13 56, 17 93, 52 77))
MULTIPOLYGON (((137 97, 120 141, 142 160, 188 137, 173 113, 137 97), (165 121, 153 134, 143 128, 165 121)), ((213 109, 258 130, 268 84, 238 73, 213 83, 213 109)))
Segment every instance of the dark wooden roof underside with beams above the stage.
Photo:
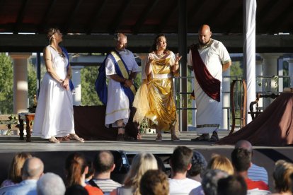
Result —
MULTIPOLYGON (((184 0, 0 0, 0 32, 177 33, 184 0)), ((216 33, 242 33, 243 0, 186 0, 187 32, 207 23, 216 33)), ((292 32, 292 0, 258 0, 256 33, 292 32)))

